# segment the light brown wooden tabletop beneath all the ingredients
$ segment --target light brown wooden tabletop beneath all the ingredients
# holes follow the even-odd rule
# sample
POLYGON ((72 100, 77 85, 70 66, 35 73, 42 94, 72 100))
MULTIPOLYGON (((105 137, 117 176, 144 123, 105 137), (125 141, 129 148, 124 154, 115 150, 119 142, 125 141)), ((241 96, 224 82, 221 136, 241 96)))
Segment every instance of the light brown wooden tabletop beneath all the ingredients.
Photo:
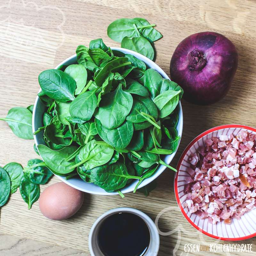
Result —
MULTIPOLYGON (((156 63, 167 74, 177 44, 199 31, 224 34, 236 45, 239 54, 236 76, 224 99, 205 107, 182 100, 184 130, 173 166, 186 145, 211 127, 232 123, 255 126, 254 0, 37 0, 28 4, 4 0, 1 5, 1 117, 12 107, 33 104, 39 90, 38 74, 73 55, 77 45, 89 45, 91 39, 101 37, 107 45, 119 46, 108 38, 108 24, 117 18, 143 17, 156 23, 164 35, 155 43, 156 63)), ((0 138, 0 166, 12 161, 25 166, 29 159, 37 157, 33 150, 34 141, 17 138, 5 122, 0 122, 0 138)), ((165 170, 157 179, 158 187, 148 197, 140 193, 126 194, 124 199, 86 194, 80 211, 63 221, 46 219, 39 211, 38 202, 28 210, 18 191, 1 208, 0 255, 90 255, 88 234, 93 222, 103 212, 119 206, 142 210, 153 220, 163 209, 171 207, 159 220, 163 232, 173 231, 171 235, 160 236, 160 256, 184 255, 186 243, 224 244, 202 235, 185 220, 174 197, 173 179, 174 173, 165 170)), ((41 191, 58 181, 53 177, 49 184, 41 186, 41 191)), ((252 238, 244 242, 255 244, 255 241, 252 238)), ((256 251, 256 246, 252 249, 256 251)), ((189 255, 207 254, 195 252, 189 255)))

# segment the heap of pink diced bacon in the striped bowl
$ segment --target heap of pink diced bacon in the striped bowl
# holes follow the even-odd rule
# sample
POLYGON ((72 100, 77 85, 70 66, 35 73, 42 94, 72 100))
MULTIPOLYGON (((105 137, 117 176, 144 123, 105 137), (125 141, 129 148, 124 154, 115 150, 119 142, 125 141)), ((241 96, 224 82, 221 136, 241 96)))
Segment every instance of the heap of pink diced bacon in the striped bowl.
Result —
POLYGON ((256 134, 220 135, 189 156, 185 207, 209 223, 239 219, 256 207, 256 134))

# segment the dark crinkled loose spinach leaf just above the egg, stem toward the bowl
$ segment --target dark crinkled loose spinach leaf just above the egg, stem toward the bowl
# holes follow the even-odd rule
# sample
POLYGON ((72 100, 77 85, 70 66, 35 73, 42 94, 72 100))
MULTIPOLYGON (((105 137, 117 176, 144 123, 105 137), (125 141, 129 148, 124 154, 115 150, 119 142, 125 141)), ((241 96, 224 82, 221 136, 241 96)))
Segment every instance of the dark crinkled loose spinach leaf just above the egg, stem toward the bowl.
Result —
MULTIPOLYGON (((30 167, 41 162, 43 162, 41 159, 30 159, 27 166, 30 167)), ((46 166, 37 166, 26 170, 24 177, 34 184, 45 184, 52 177, 52 172, 46 166)))

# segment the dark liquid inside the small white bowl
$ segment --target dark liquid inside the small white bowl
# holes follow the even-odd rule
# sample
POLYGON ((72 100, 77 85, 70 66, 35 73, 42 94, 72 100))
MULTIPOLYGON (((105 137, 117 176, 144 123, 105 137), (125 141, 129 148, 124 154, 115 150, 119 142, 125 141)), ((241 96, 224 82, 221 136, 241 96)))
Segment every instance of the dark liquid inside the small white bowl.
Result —
POLYGON ((102 222, 98 233, 98 244, 105 256, 142 256, 149 242, 145 221, 128 212, 110 215, 102 222))

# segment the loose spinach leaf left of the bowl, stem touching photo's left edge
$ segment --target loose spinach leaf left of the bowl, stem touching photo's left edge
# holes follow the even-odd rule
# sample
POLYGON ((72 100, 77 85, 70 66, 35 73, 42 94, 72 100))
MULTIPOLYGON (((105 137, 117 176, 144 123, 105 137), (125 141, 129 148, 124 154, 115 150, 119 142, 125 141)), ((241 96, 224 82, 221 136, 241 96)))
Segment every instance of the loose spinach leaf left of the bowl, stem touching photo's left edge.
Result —
POLYGON ((6 121, 17 137, 26 140, 33 139, 32 113, 27 108, 11 108, 7 116, 0 120, 6 121))

